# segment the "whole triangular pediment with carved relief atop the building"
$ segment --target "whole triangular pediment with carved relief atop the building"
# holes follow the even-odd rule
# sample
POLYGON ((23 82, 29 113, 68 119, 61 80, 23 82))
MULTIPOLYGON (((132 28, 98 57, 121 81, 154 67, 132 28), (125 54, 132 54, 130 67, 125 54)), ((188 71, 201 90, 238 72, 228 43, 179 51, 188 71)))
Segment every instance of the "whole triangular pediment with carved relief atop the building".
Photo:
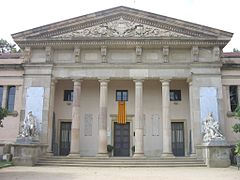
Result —
POLYGON ((16 42, 81 39, 224 39, 232 33, 128 7, 116 7, 13 34, 16 42))

